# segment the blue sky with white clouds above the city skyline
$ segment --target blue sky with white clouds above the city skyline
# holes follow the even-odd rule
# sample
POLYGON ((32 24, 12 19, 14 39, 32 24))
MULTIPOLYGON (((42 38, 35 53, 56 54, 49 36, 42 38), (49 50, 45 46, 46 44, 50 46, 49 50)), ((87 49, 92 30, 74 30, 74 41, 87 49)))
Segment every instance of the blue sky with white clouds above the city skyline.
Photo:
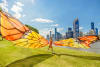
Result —
POLYGON ((77 17, 82 31, 89 31, 92 21, 100 29, 100 0, 0 0, 0 6, 42 35, 55 27, 65 33, 77 17))

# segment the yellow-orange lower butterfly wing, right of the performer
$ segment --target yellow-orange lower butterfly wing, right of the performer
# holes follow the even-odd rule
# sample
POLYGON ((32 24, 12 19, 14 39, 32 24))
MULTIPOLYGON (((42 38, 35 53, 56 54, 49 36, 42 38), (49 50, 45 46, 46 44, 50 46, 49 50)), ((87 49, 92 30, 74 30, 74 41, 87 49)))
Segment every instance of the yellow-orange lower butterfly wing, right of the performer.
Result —
POLYGON ((73 38, 65 39, 65 40, 60 40, 60 41, 55 41, 54 44, 56 46, 68 46, 68 47, 74 47, 74 48, 89 48, 85 44, 80 44, 73 38))

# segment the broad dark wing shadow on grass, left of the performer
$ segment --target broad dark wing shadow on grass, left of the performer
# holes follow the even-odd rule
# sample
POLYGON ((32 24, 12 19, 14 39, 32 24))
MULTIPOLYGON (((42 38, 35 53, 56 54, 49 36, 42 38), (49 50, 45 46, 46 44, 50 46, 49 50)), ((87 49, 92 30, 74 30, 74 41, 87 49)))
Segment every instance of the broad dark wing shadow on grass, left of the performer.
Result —
POLYGON ((52 57, 52 54, 39 54, 15 61, 6 67, 33 67, 34 65, 52 57))

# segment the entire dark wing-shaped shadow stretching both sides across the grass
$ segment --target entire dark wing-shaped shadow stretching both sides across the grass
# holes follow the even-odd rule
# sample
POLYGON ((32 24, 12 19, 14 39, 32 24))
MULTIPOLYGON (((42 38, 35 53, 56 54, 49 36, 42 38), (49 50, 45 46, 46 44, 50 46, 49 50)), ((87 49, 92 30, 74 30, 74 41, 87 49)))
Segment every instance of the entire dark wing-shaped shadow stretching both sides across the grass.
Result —
POLYGON ((15 61, 15 62, 7 65, 6 67, 34 67, 34 65, 36 65, 54 55, 57 55, 57 56, 64 55, 64 56, 71 56, 71 57, 76 57, 76 58, 100 61, 100 57, 96 57, 96 56, 79 56, 79 55, 72 55, 72 54, 53 53, 53 54, 39 54, 39 55, 30 56, 30 57, 15 61))

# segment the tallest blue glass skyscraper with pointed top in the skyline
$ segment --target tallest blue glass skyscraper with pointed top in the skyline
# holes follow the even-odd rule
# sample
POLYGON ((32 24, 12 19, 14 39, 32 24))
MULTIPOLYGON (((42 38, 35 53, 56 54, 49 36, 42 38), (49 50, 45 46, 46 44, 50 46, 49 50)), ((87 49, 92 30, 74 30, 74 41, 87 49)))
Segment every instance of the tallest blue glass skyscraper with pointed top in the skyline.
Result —
POLYGON ((79 37, 79 20, 76 18, 73 22, 73 36, 74 38, 79 37))

